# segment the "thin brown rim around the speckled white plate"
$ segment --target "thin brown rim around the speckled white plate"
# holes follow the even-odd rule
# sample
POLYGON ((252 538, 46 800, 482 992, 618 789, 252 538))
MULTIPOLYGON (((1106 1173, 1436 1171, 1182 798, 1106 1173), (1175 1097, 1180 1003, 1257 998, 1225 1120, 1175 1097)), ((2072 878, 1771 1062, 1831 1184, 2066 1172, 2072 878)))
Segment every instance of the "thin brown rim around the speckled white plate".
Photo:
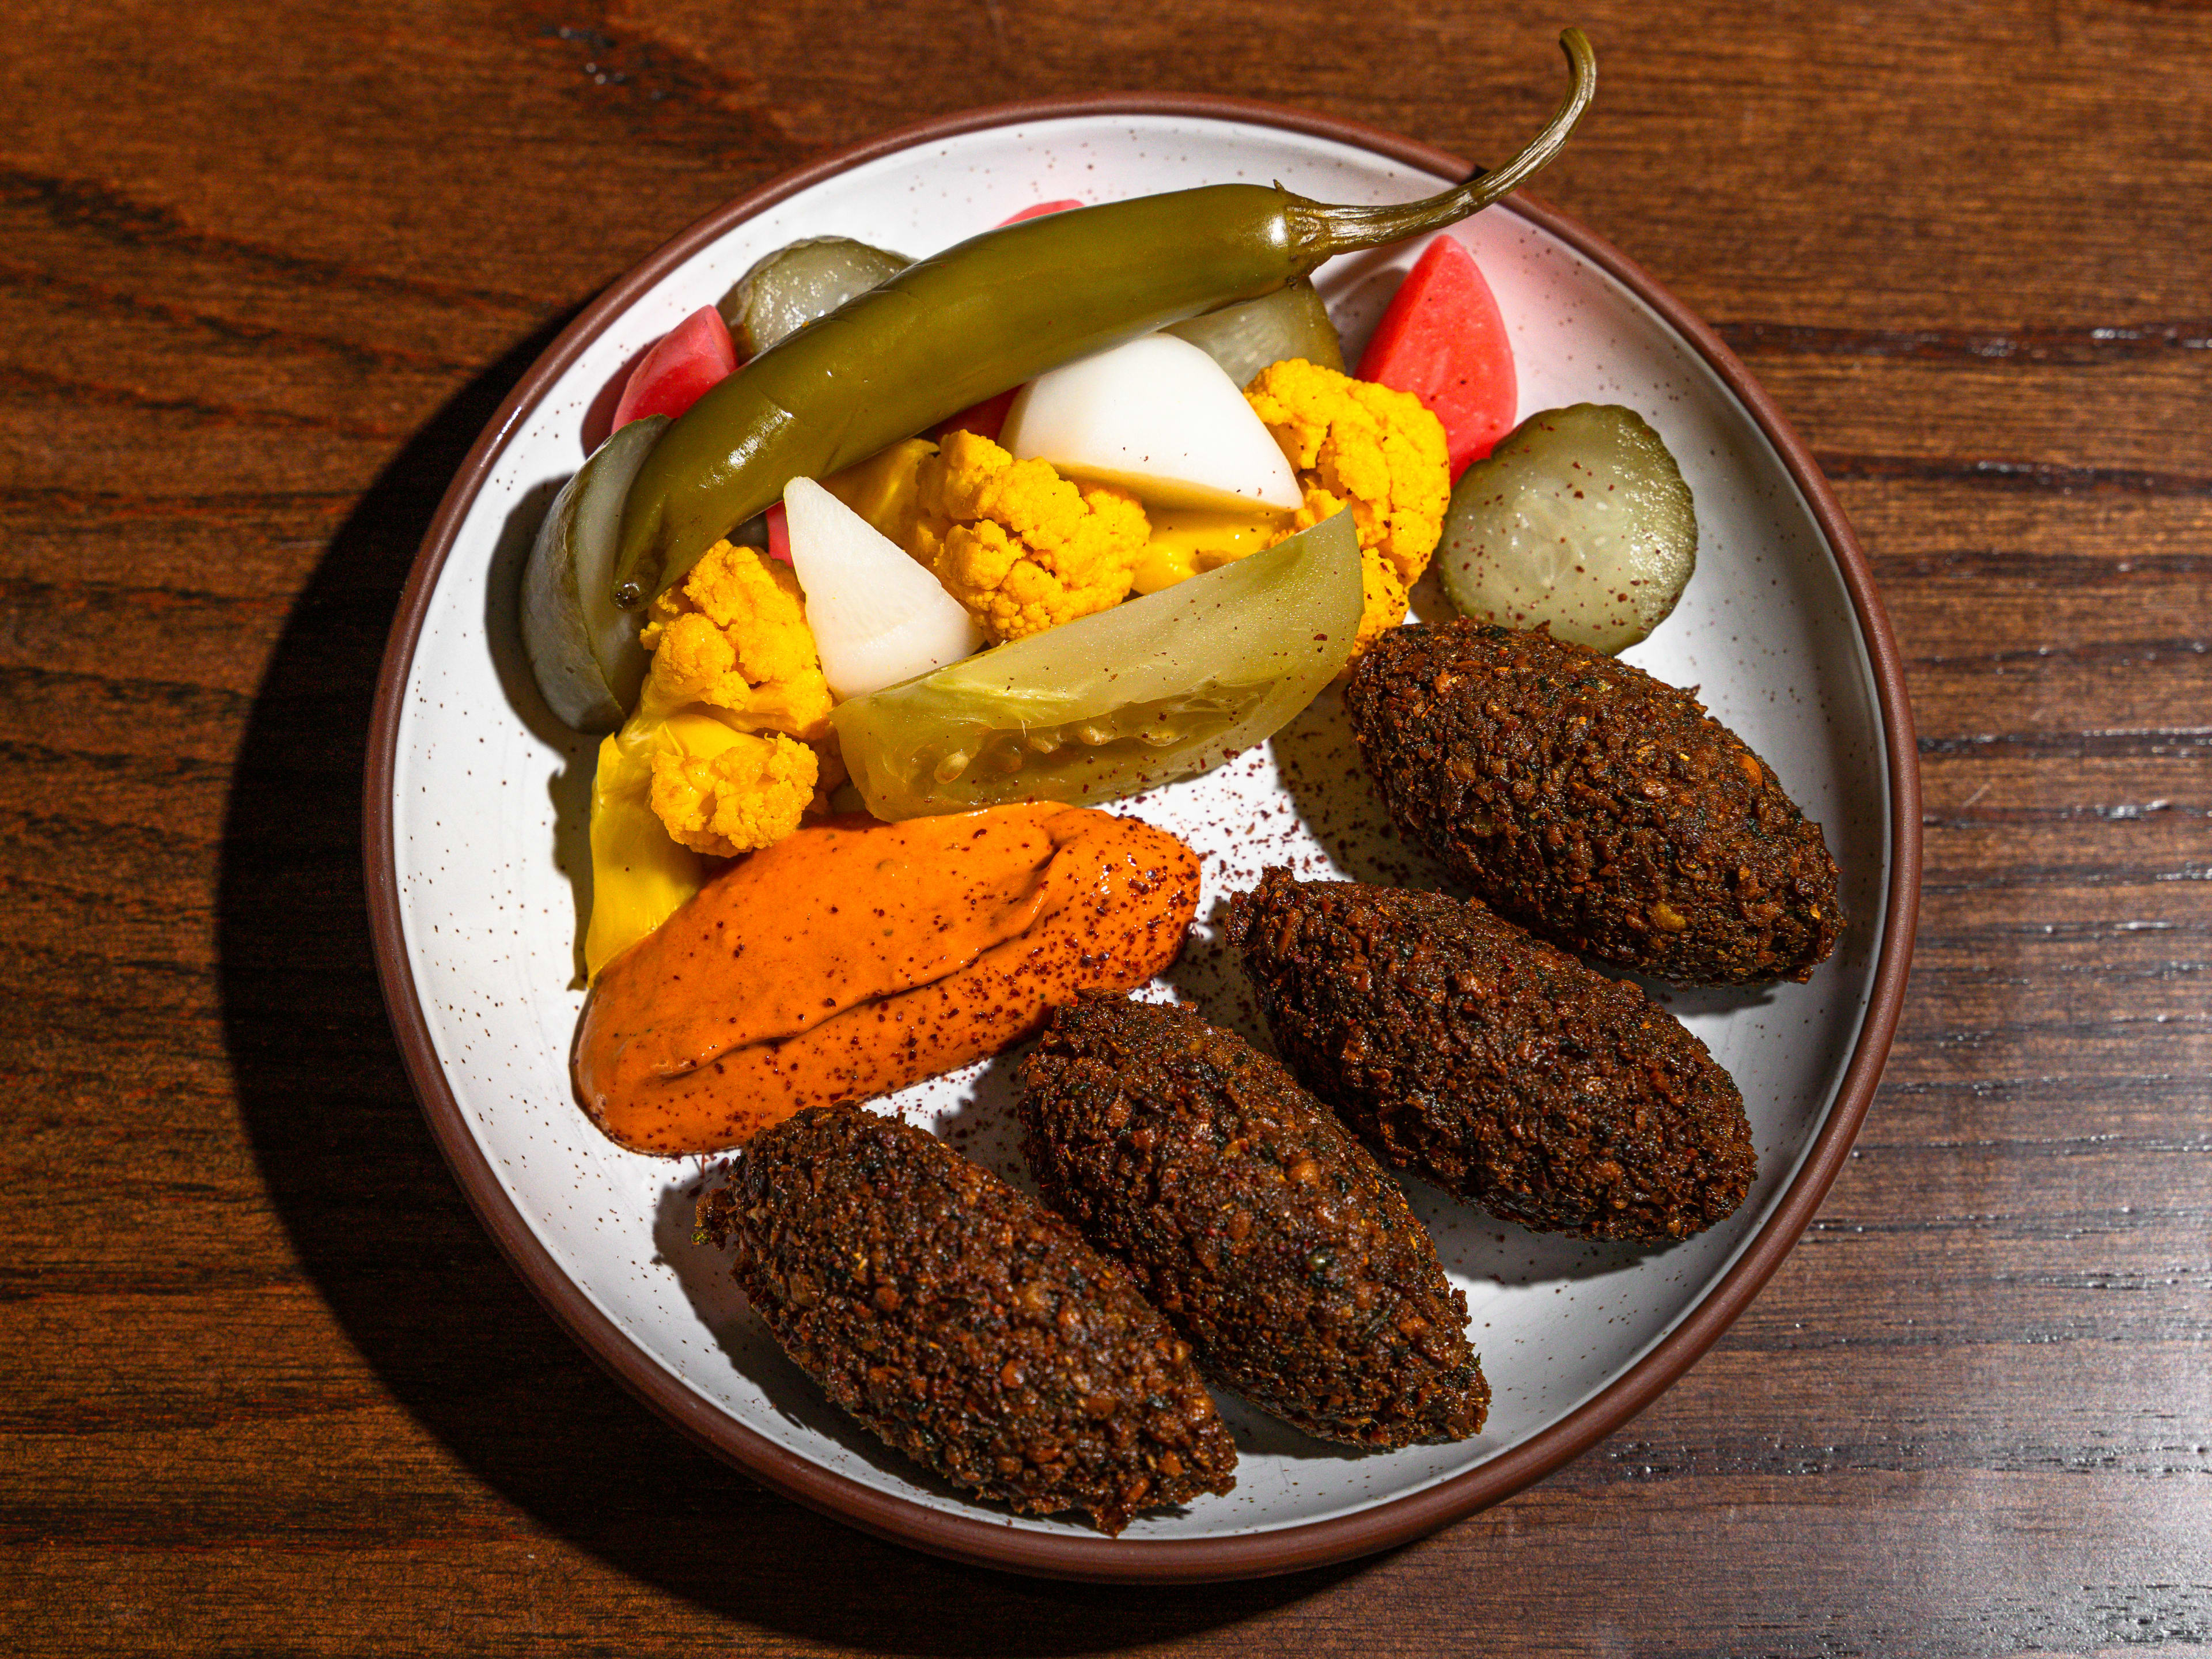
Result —
POLYGON ((484 1228, 500 1250, 538 1294, 553 1318, 624 1387, 675 1425, 692 1442, 717 1458, 743 1469, 765 1486, 792 1498, 825 1515, 834 1515, 878 1537, 909 1544, 956 1562, 975 1566, 998 1566, 1018 1573, 1048 1577, 1095 1579, 1095 1582, 1203 1582, 1230 1577, 1259 1577, 1267 1573, 1292 1573, 1329 1562, 1369 1555, 1391 1548, 1413 1537, 1460 1520, 1486 1504, 1517 1493, 1522 1486, 1544 1478, 1562 1462, 1579 1455, 1599 1438, 1628 1422, 1663 1389, 1668 1389, 1690 1365, 1725 1332, 1734 1318, 1759 1294, 1774 1274, 1783 1256, 1790 1254, 1798 1237, 1818 1210, 1829 1183, 1843 1168, 1858 1126, 1874 1102, 1874 1091, 1889 1055, 1896 1033, 1898 1011, 1905 1002, 1905 982, 1911 967, 1913 925, 1920 900, 1920 770, 1913 739, 1911 708, 1905 697, 1905 672, 1898 657, 1896 637, 1874 588, 1874 573, 1858 546, 1858 538, 1845 522, 1834 491, 1820 476, 1818 465, 1803 440, 1785 420, 1774 398, 1752 378, 1750 369, 1736 361, 1734 352, 1679 299, 1666 292, 1650 274, 1635 265, 1619 250, 1608 246, 1557 208, 1533 201, 1526 192, 1500 204, 1498 210, 1517 212, 1546 232, 1559 237, 1590 263, 1606 270, 1686 338, 1699 356, 1719 374, 1728 389, 1745 405, 1767 440, 1774 445, 1798 491, 1814 511, 1823 535, 1836 557, 1851 608, 1858 615, 1860 637, 1874 668, 1876 701, 1882 714, 1882 732, 1889 763, 1889 902, 1882 922, 1882 945, 1874 971, 1874 989, 1867 1000, 1865 1022, 1858 1044, 1845 1066, 1843 1084, 1829 1108, 1827 1121, 1814 1137, 1803 1166, 1783 1192, 1781 1203, 1765 1225, 1752 1237, 1734 1265, 1721 1274, 1719 1283, 1668 1332, 1641 1360, 1601 1394, 1584 1400, 1559 1422, 1524 1440, 1511 1451, 1469 1469, 1462 1475, 1438 1482, 1418 1493, 1394 1498, 1374 1509, 1363 1509, 1334 1520, 1285 1526, 1267 1533, 1239 1537, 1201 1540, 1108 1540, 1075 1533, 1033 1533, 1009 1526, 1004 1517, 989 1511, 975 1515, 949 1515, 909 1498, 865 1486, 847 1475, 823 1469, 799 1453, 774 1444, 765 1436, 748 1429, 737 1418, 719 1411, 692 1389, 670 1376, 661 1365, 633 1343, 606 1314, 591 1305, 584 1292, 560 1270, 553 1256, 538 1243, 522 1214, 500 1188, 484 1150, 469 1133, 447 1086, 431 1044, 429 1024, 416 995, 407 967, 405 936, 400 931, 398 869, 394 863, 396 832, 392 814, 392 779, 398 763, 398 728, 407 690, 407 675, 414 664, 416 641, 436 591, 438 573, 451 553, 460 522, 513 438, 522 418, 535 409, 540 398, 568 363, 599 336, 630 303, 653 283, 668 274, 684 259, 708 241, 721 237, 732 226, 783 201, 821 179, 845 173, 852 166, 880 155, 916 148, 933 139, 975 133, 993 126, 1015 126, 1022 122, 1048 122, 1073 115, 1166 115, 1199 117, 1219 122, 1241 122, 1272 126, 1287 133, 1334 139, 1352 148, 1383 155, 1391 161, 1425 168, 1440 177, 1464 177, 1469 164, 1455 155, 1438 150, 1396 133, 1387 133, 1358 122, 1307 111, 1283 108, 1241 97, 1208 97, 1181 93, 1097 93, 1086 97, 1046 97, 1018 104, 995 104, 989 108, 942 115, 911 126, 896 128, 874 139, 845 146, 807 166, 794 168, 743 197, 717 208, 659 248, 653 257, 635 265, 615 281, 584 312, 562 330, 560 338, 531 365, 515 389, 500 405, 500 411, 484 427, 469 449, 467 460, 453 476, 438 515, 431 520, 422 549, 416 553, 400 595, 398 615, 385 644, 383 666, 376 684, 376 708, 369 721, 367 794, 365 794, 365 878, 369 900, 369 922, 376 947, 376 973, 383 984, 385 1006, 392 1015, 392 1031, 398 1040, 407 1075, 422 1102, 431 1133, 438 1139, 453 1177, 476 1208, 484 1228))

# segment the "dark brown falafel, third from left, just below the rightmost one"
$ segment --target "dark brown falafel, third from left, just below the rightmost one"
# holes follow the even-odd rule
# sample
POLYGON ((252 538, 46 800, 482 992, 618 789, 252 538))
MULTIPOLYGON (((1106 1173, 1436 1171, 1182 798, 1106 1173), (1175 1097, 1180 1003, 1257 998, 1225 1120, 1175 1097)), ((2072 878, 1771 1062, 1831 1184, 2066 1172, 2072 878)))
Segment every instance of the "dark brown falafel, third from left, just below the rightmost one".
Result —
POLYGON ((1637 1243, 1750 1192, 1743 1095, 1705 1044, 1482 905, 1270 869, 1230 938, 1292 1071, 1398 1168, 1537 1232, 1637 1243))

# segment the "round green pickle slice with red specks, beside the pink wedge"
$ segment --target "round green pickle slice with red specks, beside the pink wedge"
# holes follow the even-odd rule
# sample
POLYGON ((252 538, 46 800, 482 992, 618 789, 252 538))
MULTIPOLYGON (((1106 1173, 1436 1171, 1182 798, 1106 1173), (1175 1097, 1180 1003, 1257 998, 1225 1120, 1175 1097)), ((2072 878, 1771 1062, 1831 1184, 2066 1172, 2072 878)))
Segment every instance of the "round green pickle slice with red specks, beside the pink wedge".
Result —
POLYGON ((1690 584, 1697 507, 1635 409, 1544 409, 1460 473, 1436 564, 1464 615, 1615 655, 1690 584))

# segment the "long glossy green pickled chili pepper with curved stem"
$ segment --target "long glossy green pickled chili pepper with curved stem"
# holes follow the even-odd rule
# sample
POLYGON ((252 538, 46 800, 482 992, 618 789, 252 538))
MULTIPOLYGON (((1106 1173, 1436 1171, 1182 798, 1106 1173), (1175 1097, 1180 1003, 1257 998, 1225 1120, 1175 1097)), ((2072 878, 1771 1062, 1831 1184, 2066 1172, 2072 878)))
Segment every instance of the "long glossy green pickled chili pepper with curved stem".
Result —
POLYGON ((1283 186, 1212 184, 1026 219, 845 301, 708 392, 653 447, 622 513, 615 602, 641 606, 792 478, 821 478, 1068 358, 1272 294, 1325 259, 1440 230, 1498 201, 1575 131, 1597 86, 1579 29, 1573 84, 1495 173, 1378 208, 1283 186))

